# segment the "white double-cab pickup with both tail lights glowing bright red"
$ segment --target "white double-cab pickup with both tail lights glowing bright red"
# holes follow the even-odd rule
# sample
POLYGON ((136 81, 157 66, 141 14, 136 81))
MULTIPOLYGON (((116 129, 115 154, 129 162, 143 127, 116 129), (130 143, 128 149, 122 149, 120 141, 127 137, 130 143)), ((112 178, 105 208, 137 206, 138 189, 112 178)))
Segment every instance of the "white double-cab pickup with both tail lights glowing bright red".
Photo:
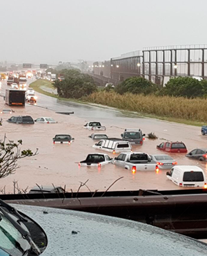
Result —
POLYGON ((132 172, 159 171, 156 163, 150 163, 150 156, 141 152, 121 153, 111 163, 132 172))

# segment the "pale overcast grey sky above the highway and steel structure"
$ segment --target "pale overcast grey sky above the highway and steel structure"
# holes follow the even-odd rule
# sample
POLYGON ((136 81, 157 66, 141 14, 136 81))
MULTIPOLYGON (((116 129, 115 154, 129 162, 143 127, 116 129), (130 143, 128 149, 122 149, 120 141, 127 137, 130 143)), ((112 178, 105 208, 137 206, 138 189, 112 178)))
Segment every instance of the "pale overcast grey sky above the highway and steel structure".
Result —
POLYGON ((206 0, 1 0, 0 60, 109 60, 145 46, 207 44, 206 0))

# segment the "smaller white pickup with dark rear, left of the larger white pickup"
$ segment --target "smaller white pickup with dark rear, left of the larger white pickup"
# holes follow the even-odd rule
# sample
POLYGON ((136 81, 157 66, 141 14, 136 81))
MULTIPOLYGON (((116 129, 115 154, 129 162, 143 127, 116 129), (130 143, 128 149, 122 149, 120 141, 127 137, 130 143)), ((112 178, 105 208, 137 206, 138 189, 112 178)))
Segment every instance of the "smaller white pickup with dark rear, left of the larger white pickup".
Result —
POLYGON ((79 166, 97 166, 101 167, 101 165, 108 165, 112 161, 112 158, 107 154, 101 153, 92 153, 88 154, 86 160, 81 161, 79 166))

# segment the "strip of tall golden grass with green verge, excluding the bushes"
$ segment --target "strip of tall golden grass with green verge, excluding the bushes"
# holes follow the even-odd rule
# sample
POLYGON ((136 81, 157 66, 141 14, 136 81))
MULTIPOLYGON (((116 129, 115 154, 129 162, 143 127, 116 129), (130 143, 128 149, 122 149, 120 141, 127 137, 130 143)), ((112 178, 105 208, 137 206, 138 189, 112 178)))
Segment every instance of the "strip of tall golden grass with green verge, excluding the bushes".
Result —
MULTIPOLYGON (((37 80, 30 84, 35 91, 45 95, 59 98, 58 95, 43 91, 41 86, 52 88, 52 82, 48 80, 37 80)), ((175 98, 175 97, 157 97, 154 95, 119 95, 117 93, 98 91, 84 97, 82 101, 75 99, 59 98, 60 100, 70 100, 81 103, 102 104, 108 107, 115 107, 122 111, 134 111, 139 116, 168 120, 171 122, 184 123, 186 125, 201 126, 207 122, 206 104, 207 100, 196 98, 175 98)))

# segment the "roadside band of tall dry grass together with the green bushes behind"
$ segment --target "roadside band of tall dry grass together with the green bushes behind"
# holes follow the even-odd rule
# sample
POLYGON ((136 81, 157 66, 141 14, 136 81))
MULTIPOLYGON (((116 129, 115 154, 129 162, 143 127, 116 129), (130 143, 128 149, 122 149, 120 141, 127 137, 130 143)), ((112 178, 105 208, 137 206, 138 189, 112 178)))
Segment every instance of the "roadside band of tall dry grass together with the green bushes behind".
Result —
POLYGON ((124 111, 135 111, 142 116, 189 125, 206 123, 206 80, 175 77, 163 88, 143 77, 130 77, 115 88, 108 86, 97 89, 92 77, 78 69, 64 69, 59 72, 64 75, 65 80, 56 80, 53 83, 37 80, 30 86, 39 93, 59 99, 102 104, 124 111), (41 86, 56 88, 58 95, 43 91, 41 86))

